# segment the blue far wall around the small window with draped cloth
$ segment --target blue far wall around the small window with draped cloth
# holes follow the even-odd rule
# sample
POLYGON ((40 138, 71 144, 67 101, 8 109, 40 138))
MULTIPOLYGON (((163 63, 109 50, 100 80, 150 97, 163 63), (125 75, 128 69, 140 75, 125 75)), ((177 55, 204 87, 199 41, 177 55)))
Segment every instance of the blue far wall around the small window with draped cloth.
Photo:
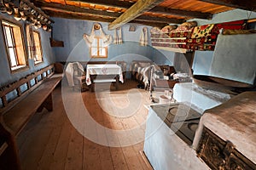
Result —
MULTIPOLYGON (((57 61, 88 61, 88 60, 124 60, 131 63, 132 60, 153 60, 157 64, 172 65, 174 53, 162 52, 150 46, 148 26, 149 45, 143 47, 139 45, 139 38, 144 26, 137 26, 136 31, 129 31, 130 25, 122 26, 123 44, 110 44, 108 46, 107 59, 91 59, 89 48, 84 42, 83 35, 90 35, 94 22, 85 20, 67 20, 54 18, 53 37, 57 41, 64 42, 64 48, 55 48, 57 61)), ((114 31, 108 30, 108 23, 100 23, 105 34, 114 35, 114 31)))

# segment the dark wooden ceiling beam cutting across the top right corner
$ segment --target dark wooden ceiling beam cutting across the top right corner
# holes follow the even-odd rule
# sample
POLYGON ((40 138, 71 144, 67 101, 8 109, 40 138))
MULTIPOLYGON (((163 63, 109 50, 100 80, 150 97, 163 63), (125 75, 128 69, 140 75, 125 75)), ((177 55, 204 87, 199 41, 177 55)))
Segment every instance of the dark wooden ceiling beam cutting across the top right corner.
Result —
POLYGON ((241 8, 256 12, 255 0, 199 0, 205 3, 214 3, 231 8, 241 8))

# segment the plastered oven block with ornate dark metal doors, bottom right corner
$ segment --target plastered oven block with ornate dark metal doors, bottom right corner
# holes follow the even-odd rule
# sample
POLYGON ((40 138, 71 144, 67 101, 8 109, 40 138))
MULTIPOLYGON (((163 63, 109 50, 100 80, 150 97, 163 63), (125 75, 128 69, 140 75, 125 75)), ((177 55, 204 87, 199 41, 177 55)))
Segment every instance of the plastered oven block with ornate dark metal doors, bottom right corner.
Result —
POLYGON ((201 116, 197 155, 212 169, 256 169, 255 132, 256 92, 239 94, 201 116))

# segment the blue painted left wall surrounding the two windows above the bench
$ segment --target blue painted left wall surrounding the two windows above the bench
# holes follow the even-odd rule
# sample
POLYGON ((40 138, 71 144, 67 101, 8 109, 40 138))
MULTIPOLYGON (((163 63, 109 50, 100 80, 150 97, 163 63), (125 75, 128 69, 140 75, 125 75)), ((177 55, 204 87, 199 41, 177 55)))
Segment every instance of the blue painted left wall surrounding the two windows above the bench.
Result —
MULTIPOLYGON (((26 48, 26 56, 28 56, 24 21, 22 21, 22 20, 16 21, 12 16, 10 16, 8 14, 2 14, 2 13, 0 13, 0 20, 9 20, 15 24, 22 26, 22 31, 23 31, 24 37, 25 37, 24 42, 25 42, 25 48, 26 48)), ((5 42, 4 42, 4 37, 3 37, 3 29, 2 29, 2 26, 0 26, 0 27, 1 27, 1 29, 0 29, 0 87, 5 84, 8 84, 10 82, 15 82, 16 80, 19 80, 20 77, 25 77, 26 75, 32 73, 33 71, 37 71, 37 70, 45 67, 46 65, 49 65, 49 64, 55 62, 54 51, 52 50, 52 48, 49 45, 50 33, 43 31, 42 29, 38 29, 37 31, 40 32, 40 36, 41 36, 44 63, 39 64, 39 65, 34 65, 33 60, 28 59, 28 62, 29 62, 28 70, 20 71, 20 72, 12 74, 10 72, 7 50, 6 50, 5 44, 4 44, 5 42)))

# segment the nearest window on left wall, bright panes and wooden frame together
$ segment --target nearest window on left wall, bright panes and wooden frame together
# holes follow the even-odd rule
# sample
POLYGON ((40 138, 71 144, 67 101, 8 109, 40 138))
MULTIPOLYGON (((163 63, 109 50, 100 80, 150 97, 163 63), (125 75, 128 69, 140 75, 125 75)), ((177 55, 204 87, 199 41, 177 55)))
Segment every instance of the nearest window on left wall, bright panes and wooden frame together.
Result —
POLYGON ((26 67, 27 60, 20 26, 7 21, 2 21, 2 25, 11 71, 26 67))

